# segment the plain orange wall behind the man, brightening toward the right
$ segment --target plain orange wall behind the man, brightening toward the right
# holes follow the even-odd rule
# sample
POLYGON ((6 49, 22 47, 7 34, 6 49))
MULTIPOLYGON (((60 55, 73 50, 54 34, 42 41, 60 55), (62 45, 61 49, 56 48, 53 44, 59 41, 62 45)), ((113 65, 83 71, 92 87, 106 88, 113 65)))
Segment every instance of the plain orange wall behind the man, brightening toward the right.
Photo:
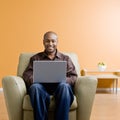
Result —
MULTIPOLYGON (((1 0, 0 81, 15 75, 21 52, 43 49, 44 32, 59 35, 59 49, 79 56, 81 68, 120 69, 120 0, 1 0)), ((0 83, 1 86, 1 83, 0 83)))

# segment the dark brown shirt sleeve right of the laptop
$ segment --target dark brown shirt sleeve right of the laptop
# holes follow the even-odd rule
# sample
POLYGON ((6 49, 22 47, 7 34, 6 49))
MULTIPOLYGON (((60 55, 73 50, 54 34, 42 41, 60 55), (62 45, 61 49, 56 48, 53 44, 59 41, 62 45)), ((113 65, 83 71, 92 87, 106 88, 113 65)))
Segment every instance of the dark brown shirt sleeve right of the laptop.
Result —
POLYGON ((67 59, 67 83, 74 85, 77 79, 77 72, 72 60, 68 57, 67 59))

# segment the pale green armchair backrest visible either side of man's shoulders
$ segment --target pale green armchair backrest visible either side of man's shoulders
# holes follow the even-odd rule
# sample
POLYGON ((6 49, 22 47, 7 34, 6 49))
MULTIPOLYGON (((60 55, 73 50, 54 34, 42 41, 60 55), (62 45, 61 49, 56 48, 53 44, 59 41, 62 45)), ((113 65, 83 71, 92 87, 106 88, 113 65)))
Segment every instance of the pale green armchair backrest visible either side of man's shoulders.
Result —
MULTIPOLYGON (((21 53, 19 56, 19 63, 18 63, 18 69, 17 69, 17 75, 22 77, 24 70, 26 69, 30 58, 35 55, 36 53, 21 53)), ((73 64, 75 65, 76 71, 78 76, 80 76, 80 66, 78 63, 78 57, 75 53, 64 53, 65 55, 68 55, 73 64)))

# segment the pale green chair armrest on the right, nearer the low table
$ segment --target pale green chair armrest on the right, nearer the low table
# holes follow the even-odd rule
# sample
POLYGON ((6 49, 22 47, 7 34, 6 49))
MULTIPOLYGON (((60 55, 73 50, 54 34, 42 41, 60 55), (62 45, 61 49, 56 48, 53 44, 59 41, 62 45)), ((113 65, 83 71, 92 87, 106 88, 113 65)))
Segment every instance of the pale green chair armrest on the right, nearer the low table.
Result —
POLYGON ((75 83, 75 95, 78 102, 77 120, 90 120, 97 88, 95 77, 81 76, 75 83))

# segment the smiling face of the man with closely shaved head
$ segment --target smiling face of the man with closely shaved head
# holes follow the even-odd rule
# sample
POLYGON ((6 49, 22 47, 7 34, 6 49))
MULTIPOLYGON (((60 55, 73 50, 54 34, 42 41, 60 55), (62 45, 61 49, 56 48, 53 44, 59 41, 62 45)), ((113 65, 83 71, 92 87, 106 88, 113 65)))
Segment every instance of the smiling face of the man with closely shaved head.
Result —
POLYGON ((57 49, 57 36, 53 33, 49 33, 45 36, 43 40, 43 45, 45 47, 46 52, 48 53, 54 53, 57 49))

